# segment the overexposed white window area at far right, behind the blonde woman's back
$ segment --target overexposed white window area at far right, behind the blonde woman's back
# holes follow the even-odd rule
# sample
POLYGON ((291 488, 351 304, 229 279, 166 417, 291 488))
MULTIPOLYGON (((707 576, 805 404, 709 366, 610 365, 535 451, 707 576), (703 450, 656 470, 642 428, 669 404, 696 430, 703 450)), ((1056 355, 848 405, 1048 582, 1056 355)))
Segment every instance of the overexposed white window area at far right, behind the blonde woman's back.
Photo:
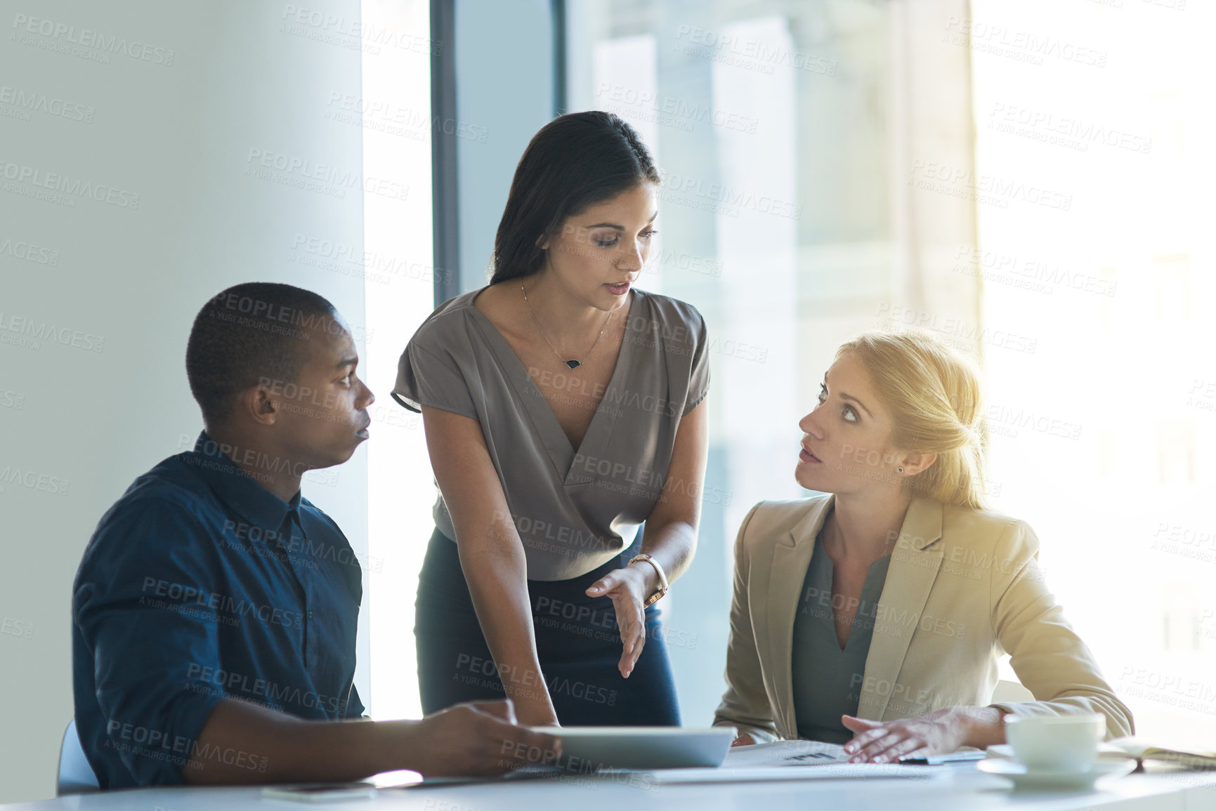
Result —
POLYGON ((1216 733, 1212 13, 975 0, 950 32, 991 192, 970 266, 985 323, 1021 338, 984 357, 998 505, 1037 530, 1137 734, 1175 745, 1216 733))

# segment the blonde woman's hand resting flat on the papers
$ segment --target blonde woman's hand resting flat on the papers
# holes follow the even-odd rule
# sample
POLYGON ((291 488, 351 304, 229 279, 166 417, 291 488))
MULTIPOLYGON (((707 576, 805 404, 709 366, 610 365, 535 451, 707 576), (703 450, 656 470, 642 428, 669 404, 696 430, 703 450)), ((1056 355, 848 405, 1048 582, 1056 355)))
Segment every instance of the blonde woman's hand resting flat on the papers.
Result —
POLYGON ((844 751, 850 764, 894 764, 901 758, 945 755, 967 745, 976 721, 972 711, 975 709, 980 708, 948 706, 899 721, 867 721, 844 715, 841 722, 854 733, 844 751))

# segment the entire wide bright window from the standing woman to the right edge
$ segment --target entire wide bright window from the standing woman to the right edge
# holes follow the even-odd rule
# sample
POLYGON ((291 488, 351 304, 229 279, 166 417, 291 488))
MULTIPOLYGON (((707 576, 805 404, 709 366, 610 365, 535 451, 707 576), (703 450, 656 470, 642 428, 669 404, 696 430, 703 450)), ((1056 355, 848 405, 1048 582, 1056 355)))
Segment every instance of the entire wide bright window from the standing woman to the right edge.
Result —
POLYGON ((687 721, 721 694, 739 520, 800 495, 815 381, 861 330, 922 327, 980 361, 993 508, 1037 531, 1137 732, 1210 744, 1211 6, 569 9, 572 108, 626 118, 665 171, 643 283, 716 339, 722 497, 668 614, 699 641, 672 651, 687 721))

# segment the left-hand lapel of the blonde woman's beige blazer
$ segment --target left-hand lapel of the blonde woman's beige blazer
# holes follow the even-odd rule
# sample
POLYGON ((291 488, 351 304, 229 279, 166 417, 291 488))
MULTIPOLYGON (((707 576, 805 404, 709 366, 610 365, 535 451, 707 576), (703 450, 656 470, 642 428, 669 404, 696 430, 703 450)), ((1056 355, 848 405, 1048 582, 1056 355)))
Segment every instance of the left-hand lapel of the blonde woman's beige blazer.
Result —
POLYGON ((760 627, 767 629, 769 655, 772 663, 772 694, 776 697, 775 720, 779 732, 787 738, 798 737, 798 720, 794 714, 794 682, 792 677, 794 649, 794 619, 801 597, 806 569, 815 553, 815 539, 823 528, 823 520, 832 512, 835 496, 828 496, 815 505, 789 533, 777 541, 772 550, 772 568, 769 571, 767 590, 754 595, 754 604, 765 606, 766 615, 758 619, 760 627), (781 728, 784 727, 784 728, 781 728))

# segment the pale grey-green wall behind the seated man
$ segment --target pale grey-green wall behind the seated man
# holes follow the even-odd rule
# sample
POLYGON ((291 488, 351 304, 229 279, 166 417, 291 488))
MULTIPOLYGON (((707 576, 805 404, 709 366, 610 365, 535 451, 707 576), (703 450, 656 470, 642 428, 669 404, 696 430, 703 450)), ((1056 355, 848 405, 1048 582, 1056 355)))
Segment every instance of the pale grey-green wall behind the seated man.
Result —
MULTIPOLYGON (((72 716, 69 592, 90 533, 133 478, 201 428, 184 370, 195 312, 229 285, 282 281, 328 297, 360 330, 362 278, 306 264, 317 257, 299 242, 361 250, 364 191, 361 129, 327 118, 328 94, 360 95, 358 0, 6 6, 0 801, 13 801, 54 794, 72 716), (305 5, 320 15, 291 12, 305 5), (35 17, 41 33, 27 30, 35 17), (94 35, 84 29, 103 39, 73 45, 94 35), (68 114, 49 112, 63 102, 68 114), (310 169, 263 169, 254 150, 310 169), (317 164, 355 185, 297 187, 317 164), (34 199, 30 171, 38 182, 56 182, 55 173, 118 191, 112 202, 34 199), (28 244, 34 260, 21 258, 28 244), (43 337, 21 334, 17 320, 43 337), (38 474, 34 486, 10 481, 17 469, 38 474)), ((366 552, 366 452, 319 479, 305 495, 366 552)), ((365 629, 356 683, 367 695, 365 629)))

